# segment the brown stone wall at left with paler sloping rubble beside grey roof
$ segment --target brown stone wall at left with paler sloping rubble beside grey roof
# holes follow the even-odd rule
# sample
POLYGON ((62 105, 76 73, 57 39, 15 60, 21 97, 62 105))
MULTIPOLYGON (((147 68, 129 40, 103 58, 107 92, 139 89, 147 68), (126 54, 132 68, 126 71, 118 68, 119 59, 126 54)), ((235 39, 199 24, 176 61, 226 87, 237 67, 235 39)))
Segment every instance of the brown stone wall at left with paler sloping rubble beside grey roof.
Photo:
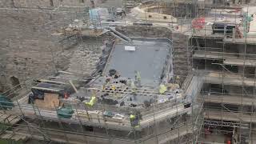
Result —
POLYGON ((11 77, 24 82, 58 70, 87 75, 95 70, 108 35, 78 41, 52 35, 77 18, 76 11, 0 10, 0 92, 14 86, 11 77))

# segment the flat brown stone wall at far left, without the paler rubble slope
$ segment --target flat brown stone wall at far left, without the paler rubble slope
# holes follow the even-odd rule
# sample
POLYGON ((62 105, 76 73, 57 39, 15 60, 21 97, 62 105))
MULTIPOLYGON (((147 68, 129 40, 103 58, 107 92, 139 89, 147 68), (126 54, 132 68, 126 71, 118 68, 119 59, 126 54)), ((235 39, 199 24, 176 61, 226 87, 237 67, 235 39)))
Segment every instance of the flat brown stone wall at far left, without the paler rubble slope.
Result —
POLYGON ((46 14, 40 11, 0 11, 0 90, 12 86, 11 77, 19 82, 65 69, 72 50, 66 50, 51 36, 66 26, 75 14, 46 14))

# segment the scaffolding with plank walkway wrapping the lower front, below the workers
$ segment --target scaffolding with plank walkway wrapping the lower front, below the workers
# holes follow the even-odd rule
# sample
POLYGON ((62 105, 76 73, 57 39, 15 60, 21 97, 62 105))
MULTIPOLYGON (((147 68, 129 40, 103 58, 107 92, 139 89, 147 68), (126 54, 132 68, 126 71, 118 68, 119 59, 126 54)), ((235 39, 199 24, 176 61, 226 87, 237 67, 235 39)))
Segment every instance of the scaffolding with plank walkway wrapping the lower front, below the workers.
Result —
MULTIPOLYGON (((58 107, 55 107, 55 110, 45 110, 36 105, 22 102, 30 94, 31 86, 30 82, 22 84, 22 87, 26 87, 26 89, 18 90, 19 95, 12 99, 14 106, 2 106, 1 118, 4 127, 1 138, 12 140, 35 138, 44 142, 67 143, 90 143, 94 142, 95 139, 102 143, 162 143, 169 142, 171 139, 173 142, 191 143, 197 138, 194 133, 200 129, 200 126, 195 125, 199 121, 198 111, 200 110, 198 110, 198 107, 193 108, 193 106, 196 106, 194 104, 190 115, 186 114, 187 110, 190 109, 183 109, 180 104, 153 105, 150 111, 142 112, 143 119, 140 121, 139 128, 130 126, 129 121, 114 123, 111 122, 110 118, 104 116, 101 118, 93 117, 93 115, 88 115, 88 113, 91 113, 90 110, 86 110, 87 114, 85 116, 81 113, 81 109, 77 109, 84 105, 72 106, 74 114, 72 114, 71 119, 59 118, 58 107), (22 94, 20 91, 25 92, 22 94), (164 121, 162 122, 162 120, 164 121), (58 123, 58 127, 53 128, 49 121, 58 123), (88 131, 85 126, 87 129, 90 126, 99 127, 100 130, 88 131), (121 130, 119 133, 123 134, 117 135, 115 130, 121 130), (191 135, 193 139, 190 139, 191 135)), ((142 93, 146 94, 148 92, 155 93, 154 91, 142 90, 142 93)), ((10 95, 17 94, 17 90, 8 90, 6 93, 10 95)), ((126 91, 126 93, 130 92, 126 91)), ((104 106, 102 107, 102 111, 107 109, 104 106)))

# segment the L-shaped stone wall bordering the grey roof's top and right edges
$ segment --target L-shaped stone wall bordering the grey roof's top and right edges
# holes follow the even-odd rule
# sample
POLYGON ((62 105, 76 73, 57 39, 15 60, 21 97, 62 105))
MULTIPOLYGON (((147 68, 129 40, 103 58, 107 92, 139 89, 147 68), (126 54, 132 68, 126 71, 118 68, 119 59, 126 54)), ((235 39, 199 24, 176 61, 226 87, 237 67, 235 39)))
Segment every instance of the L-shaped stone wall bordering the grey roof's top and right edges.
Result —
POLYGON ((179 34, 171 31, 166 27, 152 27, 152 26, 126 26, 116 27, 116 30, 129 37, 143 37, 143 38, 169 38, 173 41, 173 62, 174 74, 179 75, 183 80, 186 78, 190 70, 190 53, 187 50, 188 37, 184 34, 179 34))

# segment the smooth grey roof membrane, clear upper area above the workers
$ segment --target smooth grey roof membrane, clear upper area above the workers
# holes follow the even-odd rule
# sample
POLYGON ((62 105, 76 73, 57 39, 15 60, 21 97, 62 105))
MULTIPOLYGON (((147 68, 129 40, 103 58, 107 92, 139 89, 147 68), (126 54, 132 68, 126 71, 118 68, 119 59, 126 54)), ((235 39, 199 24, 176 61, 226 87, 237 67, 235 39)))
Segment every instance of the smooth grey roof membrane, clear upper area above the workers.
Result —
POLYGON ((117 44, 114 47, 106 65, 106 74, 114 69, 121 77, 134 79, 134 71, 138 70, 142 86, 158 86, 170 44, 163 41, 133 42, 135 51, 125 50, 125 44, 117 44))

